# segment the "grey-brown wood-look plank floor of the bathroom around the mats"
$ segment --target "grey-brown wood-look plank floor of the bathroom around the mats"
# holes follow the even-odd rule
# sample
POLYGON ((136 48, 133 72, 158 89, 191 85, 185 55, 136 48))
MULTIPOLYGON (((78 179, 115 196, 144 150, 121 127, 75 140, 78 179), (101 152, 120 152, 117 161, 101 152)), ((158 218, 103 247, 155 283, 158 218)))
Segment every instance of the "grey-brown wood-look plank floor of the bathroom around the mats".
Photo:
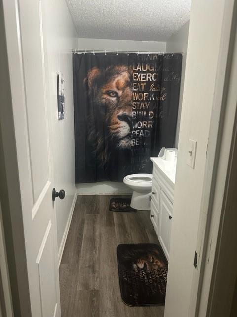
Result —
POLYGON ((77 198, 59 269, 62 317, 163 317, 162 306, 129 307, 121 300, 117 245, 158 238, 149 211, 111 212, 111 197, 77 198))

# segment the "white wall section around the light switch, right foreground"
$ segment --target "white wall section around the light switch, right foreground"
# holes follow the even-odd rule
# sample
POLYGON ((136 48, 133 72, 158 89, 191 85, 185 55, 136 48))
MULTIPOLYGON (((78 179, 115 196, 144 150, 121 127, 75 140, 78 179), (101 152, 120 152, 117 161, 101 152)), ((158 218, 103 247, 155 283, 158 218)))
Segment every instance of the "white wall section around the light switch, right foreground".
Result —
POLYGON ((189 301, 225 1, 192 0, 174 195, 165 317, 191 317, 189 301), (195 169, 186 164, 197 140, 195 169))

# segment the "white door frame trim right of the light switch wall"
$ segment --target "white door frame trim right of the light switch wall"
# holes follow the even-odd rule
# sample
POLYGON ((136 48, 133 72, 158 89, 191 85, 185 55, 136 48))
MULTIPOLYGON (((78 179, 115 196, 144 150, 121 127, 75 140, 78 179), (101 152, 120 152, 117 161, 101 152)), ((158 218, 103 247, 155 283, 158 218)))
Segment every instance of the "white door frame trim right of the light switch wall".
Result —
MULTIPOLYGON (((236 161, 233 161, 237 145, 235 139, 237 104, 235 100, 231 100, 233 95, 231 87, 235 85, 234 80, 237 80, 237 68, 233 67, 237 60, 235 49, 237 46, 236 0, 225 1, 222 23, 195 250, 198 255, 197 269, 194 269, 189 303, 189 316, 195 317, 217 317, 214 311, 215 304, 220 302, 220 294, 217 294, 216 287, 218 287, 217 284, 220 280, 223 280, 223 274, 218 271, 218 267, 221 266, 220 259, 223 257, 220 252, 221 249, 225 250, 225 256, 231 258, 232 250, 230 247, 233 246, 233 242, 237 243, 235 234, 232 234, 233 241, 230 243, 230 239, 227 239, 230 233, 229 229, 224 227, 227 217, 237 220, 237 216, 233 212, 236 202, 228 201, 229 194, 233 191, 231 174, 235 173, 237 168, 236 161), (230 243, 229 245, 227 241, 230 243)), ((233 274, 232 264, 229 266, 232 268, 231 274, 233 274)), ((235 269, 235 273, 237 273, 237 269, 235 269)), ((231 288, 224 288, 225 293, 222 289, 222 295, 232 299, 233 287, 234 285, 231 288)), ((220 288, 219 291, 221 292, 220 288)), ((218 316, 226 314, 227 310, 224 310, 224 307, 227 309, 225 305, 222 305, 218 314, 222 311, 223 315, 218 316)))

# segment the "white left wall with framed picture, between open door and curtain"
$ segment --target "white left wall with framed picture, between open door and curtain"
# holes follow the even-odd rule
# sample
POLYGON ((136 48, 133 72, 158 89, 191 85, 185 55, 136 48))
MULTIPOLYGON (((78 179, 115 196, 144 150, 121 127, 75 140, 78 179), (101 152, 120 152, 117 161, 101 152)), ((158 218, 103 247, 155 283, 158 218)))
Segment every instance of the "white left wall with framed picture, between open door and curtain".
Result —
POLYGON ((74 185, 74 110, 71 49, 77 34, 64 0, 42 1, 43 36, 47 83, 47 106, 51 119, 53 178, 56 190, 64 189, 64 200, 56 199, 57 240, 61 251, 64 232, 76 193, 74 185), (57 119, 56 73, 65 79, 65 119, 57 119), (60 248, 61 246, 61 248, 60 248))

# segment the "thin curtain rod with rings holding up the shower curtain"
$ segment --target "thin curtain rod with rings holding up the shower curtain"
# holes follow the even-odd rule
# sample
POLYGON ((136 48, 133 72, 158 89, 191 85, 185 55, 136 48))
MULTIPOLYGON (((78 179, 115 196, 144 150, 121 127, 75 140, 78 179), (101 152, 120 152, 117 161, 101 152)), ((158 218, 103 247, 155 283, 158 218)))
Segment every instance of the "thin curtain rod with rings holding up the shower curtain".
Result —
POLYGON ((153 52, 153 51, 119 51, 119 50, 77 50, 77 49, 73 49, 72 53, 103 53, 103 54, 130 54, 130 53, 136 53, 137 55, 139 54, 159 54, 159 55, 164 55, 164 54, 171 54, 171 55, 183 55, 182 52, 163 52, 163 51, 159 51, 159 52, 153 52))

